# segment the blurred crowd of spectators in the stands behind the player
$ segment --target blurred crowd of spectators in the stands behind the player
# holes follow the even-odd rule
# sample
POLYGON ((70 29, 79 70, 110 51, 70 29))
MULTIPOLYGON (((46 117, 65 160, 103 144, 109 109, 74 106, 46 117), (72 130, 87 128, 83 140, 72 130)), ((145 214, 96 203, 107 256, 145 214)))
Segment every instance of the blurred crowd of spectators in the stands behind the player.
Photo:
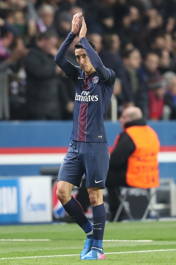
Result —
POLYGON ((72 119, 74 83, 54 57, 77 12, 117 76, 106 119, 127 105, 176 119, 176 0, 0 0, 0 120, 72 119))

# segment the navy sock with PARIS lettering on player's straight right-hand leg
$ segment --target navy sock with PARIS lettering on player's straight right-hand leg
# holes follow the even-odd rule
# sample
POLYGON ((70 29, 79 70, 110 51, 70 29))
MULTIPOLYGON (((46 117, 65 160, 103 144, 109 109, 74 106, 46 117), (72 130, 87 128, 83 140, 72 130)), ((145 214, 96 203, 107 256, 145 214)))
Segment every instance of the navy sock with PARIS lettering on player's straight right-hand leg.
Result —
POLYGON ((92 207, 93 215, 93 247, 102 249, 106 211, 104 203, 92 207))

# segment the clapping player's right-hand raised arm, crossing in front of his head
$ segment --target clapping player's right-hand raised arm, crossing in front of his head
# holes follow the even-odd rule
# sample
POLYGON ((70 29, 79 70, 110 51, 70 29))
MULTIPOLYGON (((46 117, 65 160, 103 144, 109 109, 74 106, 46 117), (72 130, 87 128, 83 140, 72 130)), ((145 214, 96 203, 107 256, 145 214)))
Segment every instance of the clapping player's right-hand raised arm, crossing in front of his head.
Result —
POLYGON ((91 64, 95 68, 96 72, 98 72, 98 74, 100 75, 100 78, 102 80, 105 80, 108 76, 108 70, 103 65, 97 52, 93 50, 93 48, 90 46, 90 44, 86 40, 86 32, 87 32, 86 23, 85 23, 84 17, 82 17, 82 27, 81 27, 80 35, 79 35, 80 43, 85 49, 86 54, 88 55, 91 64))

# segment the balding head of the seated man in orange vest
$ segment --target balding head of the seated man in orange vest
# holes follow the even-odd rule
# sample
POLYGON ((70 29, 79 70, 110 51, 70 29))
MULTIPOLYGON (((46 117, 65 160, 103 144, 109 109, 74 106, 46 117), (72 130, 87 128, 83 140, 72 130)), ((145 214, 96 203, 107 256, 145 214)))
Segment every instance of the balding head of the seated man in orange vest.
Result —
POLYGON ((121 128, 125 128, 127 122, 132 122, 142 118, 142 111, 137 107, 127 107, 122 111, 120 116, 120 125, 121 128))

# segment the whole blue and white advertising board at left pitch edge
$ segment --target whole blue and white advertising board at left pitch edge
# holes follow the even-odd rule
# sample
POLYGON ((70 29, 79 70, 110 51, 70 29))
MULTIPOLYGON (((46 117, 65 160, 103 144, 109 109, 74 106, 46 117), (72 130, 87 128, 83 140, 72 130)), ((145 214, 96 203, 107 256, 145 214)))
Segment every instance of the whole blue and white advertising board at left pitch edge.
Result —
POLYGON ((0 179, 0 223, 52 221, 51 178, 0 179))

